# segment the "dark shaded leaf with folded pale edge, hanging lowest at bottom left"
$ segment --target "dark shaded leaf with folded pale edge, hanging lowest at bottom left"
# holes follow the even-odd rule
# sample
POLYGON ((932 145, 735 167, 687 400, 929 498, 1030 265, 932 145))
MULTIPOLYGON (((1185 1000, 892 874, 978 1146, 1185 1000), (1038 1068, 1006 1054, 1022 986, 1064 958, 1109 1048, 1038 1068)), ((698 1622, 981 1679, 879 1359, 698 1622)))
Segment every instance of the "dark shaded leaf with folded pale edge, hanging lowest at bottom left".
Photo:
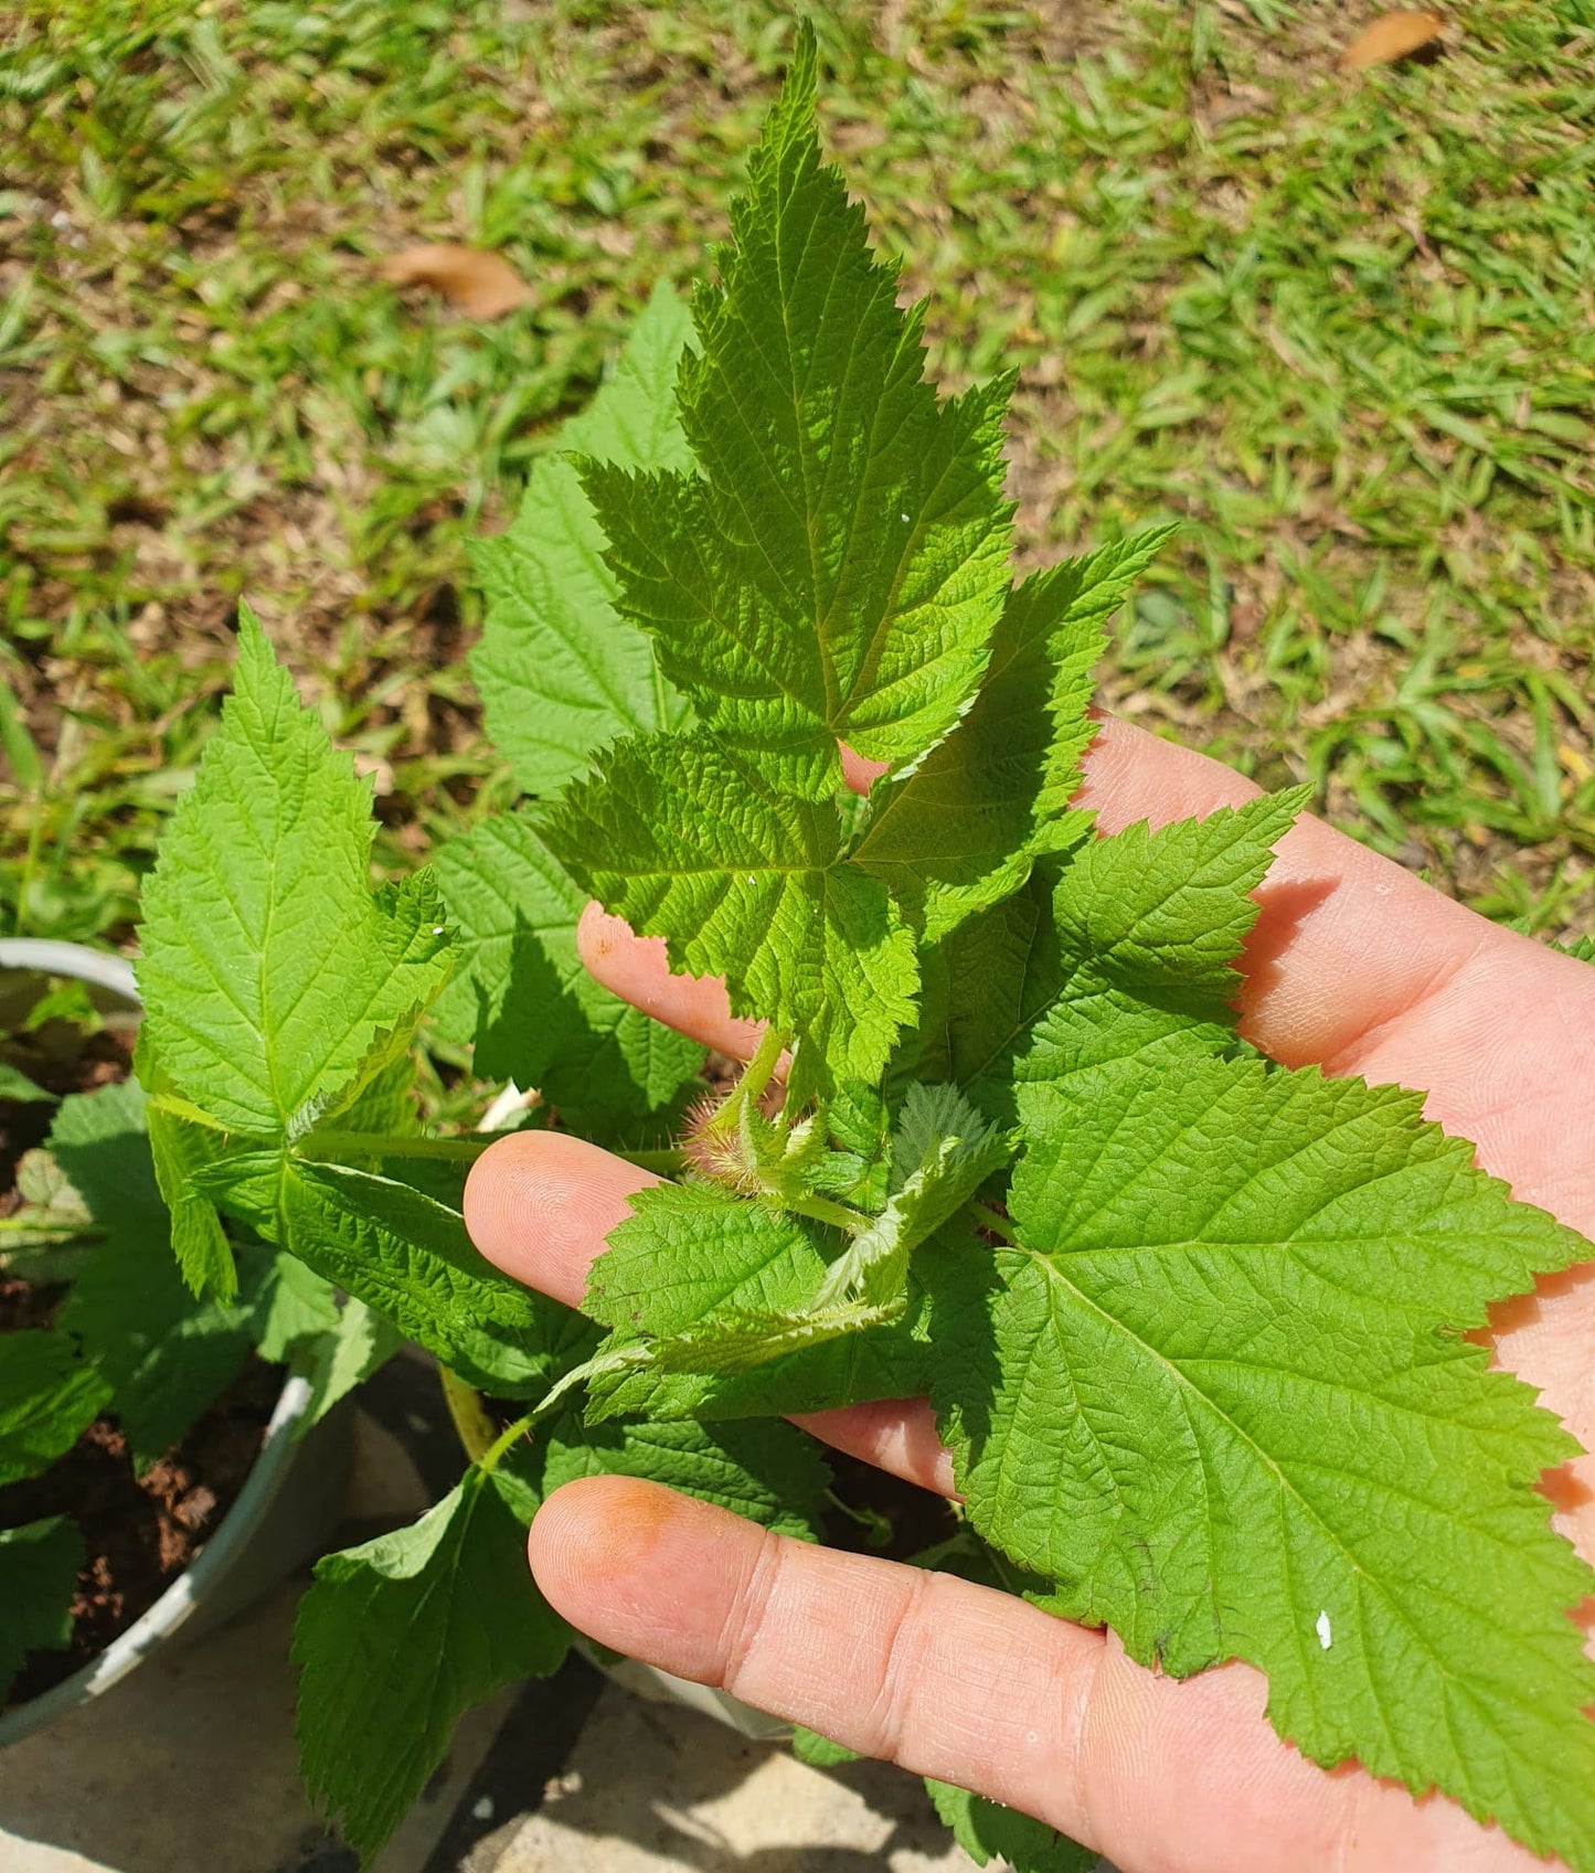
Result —
POLYGON ((479 1468, 414 1526, 316 1562, 294 1631, 300 1762, 361 1864, 421 1794, 461 1716, 556 1671, 567 1643, 500 1480, 479 1468))

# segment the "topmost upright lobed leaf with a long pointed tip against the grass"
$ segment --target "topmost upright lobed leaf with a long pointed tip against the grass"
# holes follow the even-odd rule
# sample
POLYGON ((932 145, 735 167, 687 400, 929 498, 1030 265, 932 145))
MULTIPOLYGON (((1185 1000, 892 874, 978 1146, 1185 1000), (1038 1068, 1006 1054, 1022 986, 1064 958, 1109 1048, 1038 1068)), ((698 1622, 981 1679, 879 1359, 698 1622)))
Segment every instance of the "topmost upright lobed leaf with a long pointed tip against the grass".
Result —
POLYGON ((681 425, 702 479, 582 465, 620 607, 666 674, 783 785, 827 792, 837 740, 878 760, 968 706, 1007 592, 1011 376, 938 403, 923 309, 871 251, 814 135, 814 39, 693 300, 681 425))

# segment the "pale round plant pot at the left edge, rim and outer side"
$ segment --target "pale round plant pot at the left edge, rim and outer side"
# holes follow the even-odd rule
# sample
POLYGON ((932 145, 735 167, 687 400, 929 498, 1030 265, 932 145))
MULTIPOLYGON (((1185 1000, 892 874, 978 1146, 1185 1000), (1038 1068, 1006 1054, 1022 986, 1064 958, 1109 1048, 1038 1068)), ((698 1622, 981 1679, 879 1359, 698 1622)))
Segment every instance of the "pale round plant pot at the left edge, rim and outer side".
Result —
MULTIPOLYGON (((131 965, 82 944, 4 940, 0 968, 71 976, 140 1006, 131 965)), ((309 1380, 286 1379, 243 1489, 183 1575, 71 1678, 0 1716, 0 1746, 103 1697, 155 1650, 221 1626, 320 1551, 343 1508, 350 1418, 335 1410, 300 1437, 309 1403, 309 1380)))

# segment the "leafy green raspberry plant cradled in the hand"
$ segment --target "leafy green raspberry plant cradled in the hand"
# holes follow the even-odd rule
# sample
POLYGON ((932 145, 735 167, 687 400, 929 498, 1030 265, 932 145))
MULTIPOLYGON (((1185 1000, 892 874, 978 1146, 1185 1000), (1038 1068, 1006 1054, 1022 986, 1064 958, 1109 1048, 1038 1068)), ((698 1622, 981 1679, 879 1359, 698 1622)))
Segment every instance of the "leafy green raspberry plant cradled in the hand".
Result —
MULTIPOLYGON (((414 1528, 318 1568, 313 1792, 374 1852, 455 1718, 558 1665, 522 1525, 560 1482, 812 1534, 826 1467, 783 1416, 929 1394, 960 1566, 1168 1673, 1249 1659, 1316 1762, 1595 1869, 1595 1581, 1535 1487, 1574 1444, 1464 1337, 1589 1246, 1415 1094, 1237 1040, 1299 792, 1116 837, 1069 805, 1103 622, 1163 534, 1013 581, 1013 378, 927 384, 820 161, 807 32, 715 266, 691 320, 655 294, 477 551, 476 674, 534 798, 373 890, 369 789, 245 612, 148 884, 183 1272, 227 1302, 221 1216, 256 1231, 438 1358, 468 1446, 414 1528), (885 764, 867 800, 842 744, 885 764), (588 895, 768 1023, 730 1092, 582 976, 588 895), (408 1096, 427 1023, 535 1084, 530 1124, 674 1167, 584 1315, 472 1249, 479 1141, 408 1096)), ((977 1858, 1091 1862, 934 1792, 977 1858)))

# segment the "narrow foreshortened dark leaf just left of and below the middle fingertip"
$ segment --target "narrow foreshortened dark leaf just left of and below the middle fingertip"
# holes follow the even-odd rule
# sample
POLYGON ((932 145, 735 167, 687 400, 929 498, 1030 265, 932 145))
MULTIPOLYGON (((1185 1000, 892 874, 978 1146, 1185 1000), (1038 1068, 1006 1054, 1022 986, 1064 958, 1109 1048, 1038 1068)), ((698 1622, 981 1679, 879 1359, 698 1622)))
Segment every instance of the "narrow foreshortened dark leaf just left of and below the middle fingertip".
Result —
POLYGON ((556 1375, 565 1309, 483 1261, 449 1204, 397 1178, 285 1152, 223 1159, 197 1182, 468 1384, 530 1397, 556 1375))

